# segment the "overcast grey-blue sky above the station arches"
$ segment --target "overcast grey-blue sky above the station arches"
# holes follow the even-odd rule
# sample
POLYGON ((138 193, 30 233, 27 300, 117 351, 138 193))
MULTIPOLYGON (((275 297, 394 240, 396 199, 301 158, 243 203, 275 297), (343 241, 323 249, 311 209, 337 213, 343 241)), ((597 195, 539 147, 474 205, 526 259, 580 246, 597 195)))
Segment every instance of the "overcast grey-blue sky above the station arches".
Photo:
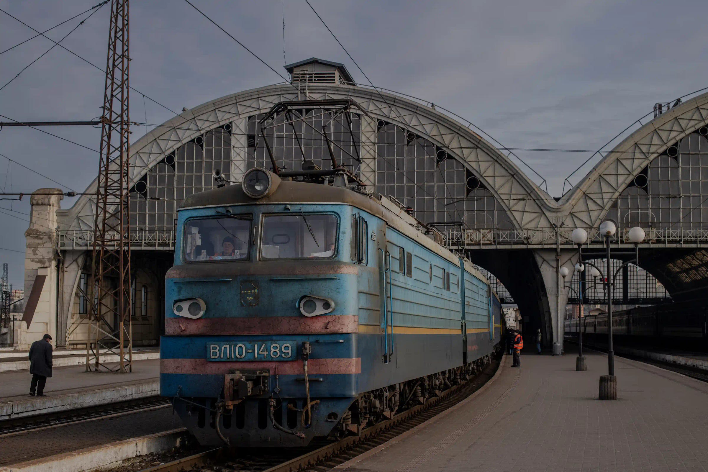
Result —
MULTIPOLYGON (((286 62, 314 56, 343 62, 365 82, 304 0, 192 1, 284 76, 286 62)), ((0 8, 45 30, 96 3, 0 0, 0 8)), ((376 86, 449 108, 508 147, 598 149, 654 103, 708 86, 704 0, 311 3, 376 86)), ((172 110, 282 81, 185 1, 133 0, 130 8, 130 83, 172 110)), ((104 6, 62 45, 105 67, 108 15, 104 6)), ((47 35, 59 40, 79 21, 47 35)), ((0 12, 0 50, 33 35, 0 12)), ((0 86, 51 46, 40 37, 0 54, 0 86)), ((0 114, 91 120, 100 115, 103 81, 100 71, 55 47, 0 91, 0 114)), ((144 105, 139 93, 130 98, 132 120, 172 116, 149 100, 144 105)), ((98 149, 99 129, 45 129, 98 149)), ((135 140, 146 129, 132 132, 135 140)), ((0 131, 0 153, 79 192, 98 171, 95 152, 34 129, 0 131)), ((546 178, 554 196, 589 156, 516 154, 546 178)), ((3 157, 0 185, 5 192, 57 186, 16 164, 8 172, 3 157)), ((66 199, 62 207, 72 203, 66 199)), ((0 209, 13 215, 0 214, 0 247, 23 252, 28 198, 0 207, 15 211, 0 209)), ((0 262, 10 263, 10 282, 21 285, 23 254, 2 250, 0 262)))

